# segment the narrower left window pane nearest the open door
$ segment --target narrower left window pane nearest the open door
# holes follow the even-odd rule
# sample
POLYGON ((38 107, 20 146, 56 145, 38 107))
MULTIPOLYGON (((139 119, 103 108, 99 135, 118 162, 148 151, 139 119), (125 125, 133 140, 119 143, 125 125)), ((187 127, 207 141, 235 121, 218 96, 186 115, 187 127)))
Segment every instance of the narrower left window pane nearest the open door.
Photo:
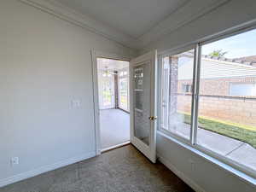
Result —
POLYGON ((161 61, 161 128, 189 139, 194 49, 161 61))

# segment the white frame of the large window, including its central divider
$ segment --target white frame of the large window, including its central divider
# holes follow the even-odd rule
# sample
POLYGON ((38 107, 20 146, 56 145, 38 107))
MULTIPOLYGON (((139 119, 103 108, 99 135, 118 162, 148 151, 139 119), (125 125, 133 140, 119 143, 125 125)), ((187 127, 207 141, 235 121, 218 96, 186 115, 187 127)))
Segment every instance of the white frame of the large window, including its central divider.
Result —
MULTIPOLYGON (((230 166, 232 169, 235 169, 238 172, 241 172, 241 174, 236 174, 236 176, 241 177, 242 174, 246 174, 248 177, 252 177, 252 179, 256 178, 256 172, 253 171, 252 168, 249 168, 245 165, 242 165, 240 162, 236 162, 235 160, 231 160, 221 154, 218 154, 216 152, 214 152, 213 150, 209 149, 209 148, 205 148, 201 145, 198 145, 196 143, 196 136, 197 136, 197 129, 198 129, 198 109, 199 109, 199 90, 200 90, 200 72, 201 72, 201 47, 205 44, 210 44, 212 42, 224 39, 224 38, 230 38, 232 36, 235 36, 237 34, 241 34, 243 32, 247 32, 247 31, 251 31, 253 29, 255 29, 256 26, 243 26, 243 27, 238 27, 235 29, 231 29, 228 30, 227 32, 222 32, 220 34, 216 34, 213 37, 209 37, 209 38, 205 38, 205 39, 201 39, 198 40, 194 43, 190 43, 187 45, 184 45, 180 48, 176 48, 176 49, 169 49, 166 51, 163 51, 161 53, 159 53, 158 55, 158 59, 159 59, 159 70, 158 70, 158 79, 162 79, 162 58, 165 55, 177 55, 179 53, 182 53, 186 50, 189 49, 194 49, 194 70, 193 70, 193 85, 192 85, 192 103, 191 103, 191 130, 190 130, 190 137, 189 140, 187 140, 184 137, 178 136, 175 133, 172 133, 171 131, 168 131, 164 128, 161 127, 161 123, 160 120, 158 121, 158 131, 160 131, 161 133, 163 133, 164 135, 166 135, 167 137, 172 137, 174 139, 176 139, 178 142, 184 143, 189 145, 189 147, 191 148, 195 148, 195 150, 200 151, 203 154, 207 154, 210 157, 230 166)), ((161 119, 161 81, 159 81, 159 86, 158 86, 158 92, 160 94, 159 96, 159 100, 158 100, 158 116, 161 119)), ((230 169, 227 169, 228 171, 232 172, 230 169)), ((234 172, 232 172, 234 173, 234 172)), ((255 184, 255 182, 251 182, 250 179, 247 179, 245 177, 241 177, 246 181, 249 181, 248 183, 253 183, 255 184)))

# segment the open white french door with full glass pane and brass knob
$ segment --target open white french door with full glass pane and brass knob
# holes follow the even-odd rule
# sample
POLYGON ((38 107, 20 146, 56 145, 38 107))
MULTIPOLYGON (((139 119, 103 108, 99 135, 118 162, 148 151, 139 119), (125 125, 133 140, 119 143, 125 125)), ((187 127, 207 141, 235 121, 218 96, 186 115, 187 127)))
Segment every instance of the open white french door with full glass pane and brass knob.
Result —
POLYGON ((156 160, 156 51, 130 62, 131 143, 156 160))

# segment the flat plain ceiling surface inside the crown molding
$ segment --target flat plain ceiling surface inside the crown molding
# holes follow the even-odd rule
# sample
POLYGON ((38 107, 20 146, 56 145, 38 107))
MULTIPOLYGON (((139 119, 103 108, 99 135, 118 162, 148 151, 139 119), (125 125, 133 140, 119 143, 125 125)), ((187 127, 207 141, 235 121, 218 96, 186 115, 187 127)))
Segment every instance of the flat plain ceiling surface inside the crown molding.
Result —
POLYGON ((139 38, 189 0, 57 0, 139 38))

